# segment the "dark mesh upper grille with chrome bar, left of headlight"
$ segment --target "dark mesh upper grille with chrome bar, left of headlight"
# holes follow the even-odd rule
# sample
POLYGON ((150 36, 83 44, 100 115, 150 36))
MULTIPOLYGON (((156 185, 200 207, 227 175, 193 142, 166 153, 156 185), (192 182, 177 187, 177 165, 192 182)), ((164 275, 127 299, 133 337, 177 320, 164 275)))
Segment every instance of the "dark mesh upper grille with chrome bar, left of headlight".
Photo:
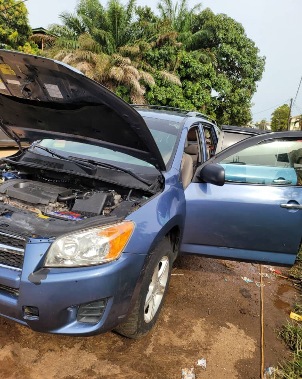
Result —
POLYGON ((24 238, 0 232, 0 264, 22 269, 25 246, 24 238))

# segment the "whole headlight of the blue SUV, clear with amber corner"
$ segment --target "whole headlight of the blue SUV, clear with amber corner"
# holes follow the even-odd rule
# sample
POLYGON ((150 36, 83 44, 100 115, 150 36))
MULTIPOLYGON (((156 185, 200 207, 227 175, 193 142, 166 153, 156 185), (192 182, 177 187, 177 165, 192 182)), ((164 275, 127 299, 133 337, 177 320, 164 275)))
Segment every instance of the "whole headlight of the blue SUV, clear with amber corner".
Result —
POLYGON ((50 246, 44 267, 90 266, 115 260, 133 229, 133 222, 123 221, 58 238, 50 246))

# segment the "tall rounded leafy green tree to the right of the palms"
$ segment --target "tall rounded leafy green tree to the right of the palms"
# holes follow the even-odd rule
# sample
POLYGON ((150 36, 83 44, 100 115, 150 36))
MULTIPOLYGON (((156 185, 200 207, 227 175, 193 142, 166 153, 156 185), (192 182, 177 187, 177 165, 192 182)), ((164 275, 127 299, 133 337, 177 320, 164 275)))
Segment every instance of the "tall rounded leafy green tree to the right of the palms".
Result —
POLYGON ((195 17, 194 33, 210 31, 204 46, 215 54, 216 76, 212 99, 216 119, 220 124, 246 125, 251 121, 251 99, 261 80, 265 57, 249 39, 243 26, 226 14, 214 14, 209 8, 195 17))

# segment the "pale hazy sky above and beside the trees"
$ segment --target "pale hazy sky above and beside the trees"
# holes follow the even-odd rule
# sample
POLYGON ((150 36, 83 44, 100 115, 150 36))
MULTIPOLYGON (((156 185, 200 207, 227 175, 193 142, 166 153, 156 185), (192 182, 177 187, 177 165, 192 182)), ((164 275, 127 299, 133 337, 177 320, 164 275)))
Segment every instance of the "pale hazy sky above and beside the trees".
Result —
MULTIPOLYGON (((107 1, 101 0, 102 4, 107 1)), ((190 6, 197 1, 189 0, 190 6)), ((59 22, 58 14, 73 11, 76 0, 28 0, 26 6, 32 28, 59 22), (45 8, 43 7, 43 5, 45 8)), ((156 10, 157 0, 137 1, 156 10)), ((202 8, 226 13, 240 22, 246 34, 266 56, 265 72, 252 103, 253 121, 271 118, 279 105, 296 96, 302 76, 302 1, 301 0, 204 0, 202 8)), ((291 112, 302 114, 302 85, 291 112)))

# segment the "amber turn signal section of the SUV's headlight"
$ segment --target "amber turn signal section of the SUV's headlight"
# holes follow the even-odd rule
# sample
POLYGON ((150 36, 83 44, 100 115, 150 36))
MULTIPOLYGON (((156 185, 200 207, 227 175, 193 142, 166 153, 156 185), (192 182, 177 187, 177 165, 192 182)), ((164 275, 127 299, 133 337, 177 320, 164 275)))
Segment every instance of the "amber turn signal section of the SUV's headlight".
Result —
POLYGON ((134 229, 134 223, 123 221, 120 224, 110 226, 101 230, 99 236, 106 237, 110 246, 109 253, 104 257, 105 260, 113 260, 119 257, 134 229))

